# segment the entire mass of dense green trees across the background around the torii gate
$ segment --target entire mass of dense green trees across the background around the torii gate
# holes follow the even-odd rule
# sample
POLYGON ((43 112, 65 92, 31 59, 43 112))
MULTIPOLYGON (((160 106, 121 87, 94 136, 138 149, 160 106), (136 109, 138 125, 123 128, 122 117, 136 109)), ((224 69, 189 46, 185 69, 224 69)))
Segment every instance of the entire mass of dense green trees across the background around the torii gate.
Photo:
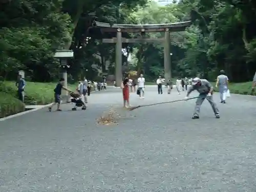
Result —
MULTIPOLYGON (((18 70, 26 78, 51 81, 59 77, 56 49, 72 49, 71 78, 94 78, 99 72, 113 73, 115 46, 102 44, 92 30, 93 20, 105 23, 159 24, 191 19, 185 32, 171 34, 173 76, 215 78, 226 70, 232 81, 250 80, 255 71, 255 3, 232 0, 182 0, 160 7, 155 2, 13 0, 0 8, 0 76, 13 79, 18 70), (86 41, 87 37, 88 41, 86 41)), ((137 34, 123 34, 133 37, 137 34)), ((150 33, 160 37, 163 34, 150 33)), ((163 71, 163 47, 152 43, 123 44, 132 55, 130 69, 142 68, 155 78, 163 71)), ((123 56, 124 64, 127 57, 123 56)), ((127 68, 126 68, 127 69, 127 68)))

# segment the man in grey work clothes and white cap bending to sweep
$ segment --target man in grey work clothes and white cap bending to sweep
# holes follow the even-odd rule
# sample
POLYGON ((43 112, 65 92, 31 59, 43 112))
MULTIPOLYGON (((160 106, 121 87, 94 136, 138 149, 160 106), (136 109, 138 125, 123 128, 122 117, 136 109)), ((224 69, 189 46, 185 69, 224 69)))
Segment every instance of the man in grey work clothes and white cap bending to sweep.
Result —
POLYGON ((204 99, 207 99, 209 101, 212 110, 214 110, 216 118, 219 119, 219 109, 217 108, 217 105, 214 102, 212 96, 214 88, 211 86, 210 82, 206 79, 200 79, 198 77, 194 78, 192 80, 192 86, 187 91, 185 100, 188 99, 189 94, 194 90, 197 90, 199 92, 199 98, 196 101, 195 111, 192 119, 199 119, 200 108, 204 99))

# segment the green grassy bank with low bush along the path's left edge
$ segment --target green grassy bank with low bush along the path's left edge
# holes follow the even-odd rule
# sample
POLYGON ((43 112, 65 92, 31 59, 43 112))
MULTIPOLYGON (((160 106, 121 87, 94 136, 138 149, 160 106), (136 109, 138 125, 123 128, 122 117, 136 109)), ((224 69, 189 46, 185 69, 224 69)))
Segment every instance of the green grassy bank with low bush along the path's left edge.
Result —
MULTIPOLYGON (((56 83, 26 82, 25 103, 48 104, 53 101, 53 90, 56 83)), ((69 84, 74 90, 76 84, 69 84)), ((16 87, 13 81, 0 81, 0 118, 25 111, 25 105, 16 98, 16 87)))

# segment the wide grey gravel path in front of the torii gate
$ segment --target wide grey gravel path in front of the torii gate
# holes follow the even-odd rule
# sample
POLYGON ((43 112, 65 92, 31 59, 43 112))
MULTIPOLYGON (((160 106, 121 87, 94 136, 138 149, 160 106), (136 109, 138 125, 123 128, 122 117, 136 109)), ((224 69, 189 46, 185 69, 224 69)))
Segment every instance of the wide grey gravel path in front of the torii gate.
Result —
MULTIPOLYGON (((157 94, 131 104, 182 99, 157 94)), ((196 96, 197 93, 191 94, 196 96)), ((219 102, 219 95, 215 95, 219 102)), ((127 112, 120 89, 94 93, 87 111, 42 109, 0 121, 0 191, 256 191, 255 103, 231 95, 215 119, 205 101, 200 119, 190 119, 195 101, 127 112), (96 125, 113 106, 119 125, 96 125)))

